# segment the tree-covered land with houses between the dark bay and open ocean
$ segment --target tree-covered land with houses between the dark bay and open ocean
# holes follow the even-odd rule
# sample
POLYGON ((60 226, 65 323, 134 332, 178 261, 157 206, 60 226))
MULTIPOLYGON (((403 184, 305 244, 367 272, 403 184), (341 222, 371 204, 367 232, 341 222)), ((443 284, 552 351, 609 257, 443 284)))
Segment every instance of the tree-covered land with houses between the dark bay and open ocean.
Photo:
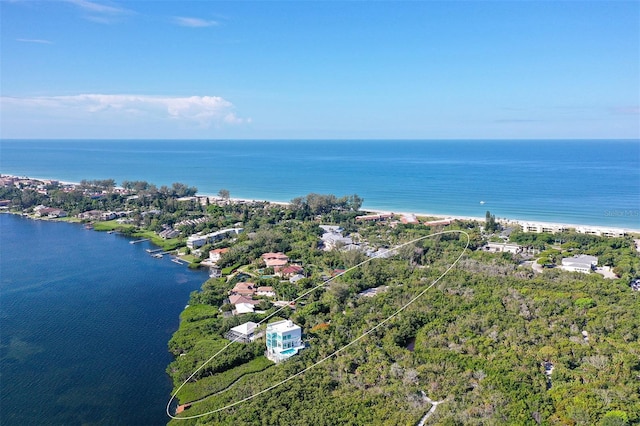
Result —
POLYGON ((170 424, 640 424, 639 236, 526 232, 489 212, 368 214, 362 202, 110 179, 0 187, 6 211, 150 238, 210 268, 169 342, 170 411, 194 418, 170 424), (453 230, 468 249, 451 232, 394 250, 453 230), (302 343, 273 362, 281 321, 302 343))

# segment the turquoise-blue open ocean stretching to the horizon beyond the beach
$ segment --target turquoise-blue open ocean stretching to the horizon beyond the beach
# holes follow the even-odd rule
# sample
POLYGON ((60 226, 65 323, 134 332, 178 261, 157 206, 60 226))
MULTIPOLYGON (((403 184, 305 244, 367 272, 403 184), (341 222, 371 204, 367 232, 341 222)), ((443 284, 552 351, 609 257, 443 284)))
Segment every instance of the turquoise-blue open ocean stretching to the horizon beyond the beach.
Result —
POLYGON ((640 228, 638 140, 4 140, 0 172, 272 201, 357 193, 370 209, 640 228))

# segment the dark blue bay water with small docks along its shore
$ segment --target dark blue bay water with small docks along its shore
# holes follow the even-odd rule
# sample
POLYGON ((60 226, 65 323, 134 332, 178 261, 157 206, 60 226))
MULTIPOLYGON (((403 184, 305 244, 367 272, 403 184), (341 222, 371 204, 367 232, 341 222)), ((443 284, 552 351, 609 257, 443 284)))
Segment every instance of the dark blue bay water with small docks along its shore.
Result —
POLYGON ((207 275, 128 241, 0 214, 0 424, 166 424, 167 342, 207 275))

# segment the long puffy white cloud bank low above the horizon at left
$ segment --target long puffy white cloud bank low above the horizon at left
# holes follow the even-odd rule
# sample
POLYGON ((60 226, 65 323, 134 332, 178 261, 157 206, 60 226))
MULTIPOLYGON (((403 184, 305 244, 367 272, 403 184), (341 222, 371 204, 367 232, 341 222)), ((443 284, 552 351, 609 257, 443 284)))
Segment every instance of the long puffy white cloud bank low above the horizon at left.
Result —
MULTIPOLYGON (((235 115, 231 102, 219 96, 163 97, 144 95, 82 94, 74 96, 2 97, 3 110, 21 110, 35 116, 72 120, 124 119, 174 121, 188 126, 239 125, 250 119, 235 115)), ((116 123, 117 121, 114 121, 116 123)))

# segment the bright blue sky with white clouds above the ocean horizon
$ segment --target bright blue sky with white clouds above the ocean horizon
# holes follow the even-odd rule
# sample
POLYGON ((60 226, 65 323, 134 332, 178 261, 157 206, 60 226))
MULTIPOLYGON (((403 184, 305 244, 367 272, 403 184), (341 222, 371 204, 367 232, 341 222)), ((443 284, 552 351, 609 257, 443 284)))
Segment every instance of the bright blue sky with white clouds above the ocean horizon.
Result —
POLYGON ((2 138, 639 138, 638 1, 0 0, 2 138))

